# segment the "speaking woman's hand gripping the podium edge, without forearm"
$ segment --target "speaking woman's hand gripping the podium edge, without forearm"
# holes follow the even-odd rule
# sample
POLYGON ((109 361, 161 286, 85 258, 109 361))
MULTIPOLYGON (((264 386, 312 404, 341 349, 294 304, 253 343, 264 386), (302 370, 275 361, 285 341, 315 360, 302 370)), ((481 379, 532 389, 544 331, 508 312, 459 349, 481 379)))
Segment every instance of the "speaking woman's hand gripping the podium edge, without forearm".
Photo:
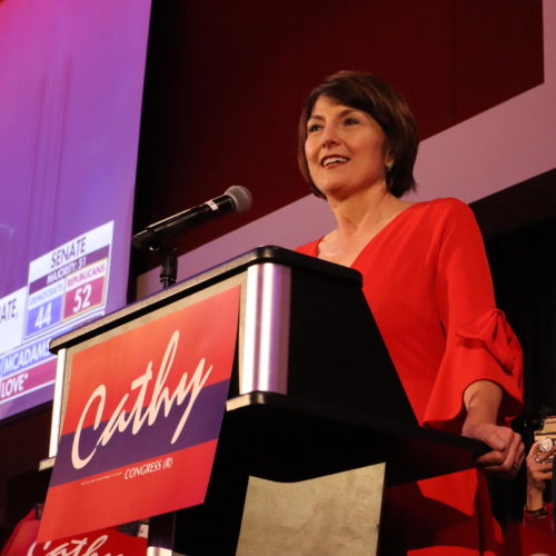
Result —
POLYGON ((461 434, 490 446, 488 451, 477 458, 477 465, 489 473, 514 477, 525 459, 522 436, 509 427, 492 423, 464 424, 461 434))

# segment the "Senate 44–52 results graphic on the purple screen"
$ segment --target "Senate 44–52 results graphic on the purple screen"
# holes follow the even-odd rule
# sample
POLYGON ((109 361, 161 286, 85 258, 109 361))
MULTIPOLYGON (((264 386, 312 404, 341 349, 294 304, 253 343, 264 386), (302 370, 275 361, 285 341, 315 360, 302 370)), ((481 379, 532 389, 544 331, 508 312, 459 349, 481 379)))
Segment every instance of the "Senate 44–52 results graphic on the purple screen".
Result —
POLYGON ((105 312, 113 222, 29 265, 28 286, 0 299, 0 419, 52 399, 51 338, 105 312))

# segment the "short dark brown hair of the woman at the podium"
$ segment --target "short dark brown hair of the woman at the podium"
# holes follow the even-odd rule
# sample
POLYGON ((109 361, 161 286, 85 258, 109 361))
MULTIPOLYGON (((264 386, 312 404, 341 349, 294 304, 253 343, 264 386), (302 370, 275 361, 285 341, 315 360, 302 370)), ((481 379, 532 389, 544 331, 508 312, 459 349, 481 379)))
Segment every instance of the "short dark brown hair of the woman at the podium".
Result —
POLYGON ((419 138, 415 118, 406 99, 371 73, 339 71, 311 91, 299 119, 297 150, 299 168, 317 197, 326 198, 310 177, 305 156, 305 141, 307 139, 307 121, 311 116, 315 102, 320 97, 327 97, 340 105, 363 110, 374 118, 385 133, 386 150, 394 158, 391 170, 386 172, 388 190, 395 197, 401 197, 407 191, 415 189, 414 165, 419 138))

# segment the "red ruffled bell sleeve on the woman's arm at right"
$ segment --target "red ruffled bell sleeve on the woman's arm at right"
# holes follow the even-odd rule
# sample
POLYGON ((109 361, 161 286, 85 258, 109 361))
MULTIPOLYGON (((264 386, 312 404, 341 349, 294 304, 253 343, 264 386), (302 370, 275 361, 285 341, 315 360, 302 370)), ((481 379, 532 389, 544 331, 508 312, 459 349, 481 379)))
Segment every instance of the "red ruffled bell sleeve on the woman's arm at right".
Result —
POLYGON ((523 354, 504 312, 496 308, 483 237, 471 210, 454 202, 437 237, 435 296, 446 334, 424 423, 460 434, 464 391, 477 380, 503 390, 500 421, 522 408, 523 354))

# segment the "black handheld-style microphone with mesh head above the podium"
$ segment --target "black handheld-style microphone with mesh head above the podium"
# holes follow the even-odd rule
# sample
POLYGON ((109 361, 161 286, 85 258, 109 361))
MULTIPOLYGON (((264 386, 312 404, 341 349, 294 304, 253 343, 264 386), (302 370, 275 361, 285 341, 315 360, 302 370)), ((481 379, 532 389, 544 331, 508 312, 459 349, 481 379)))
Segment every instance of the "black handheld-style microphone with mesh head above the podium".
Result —
POLYGON ((250 206, 249 189, 242 186, 231 186, 220 197, 147 226, 145 230, 133 236, 132 245, 136 249, 145 247, 158 249, 163 241, 189 226, 200 224, 212 216, 245 212, 250 206))

